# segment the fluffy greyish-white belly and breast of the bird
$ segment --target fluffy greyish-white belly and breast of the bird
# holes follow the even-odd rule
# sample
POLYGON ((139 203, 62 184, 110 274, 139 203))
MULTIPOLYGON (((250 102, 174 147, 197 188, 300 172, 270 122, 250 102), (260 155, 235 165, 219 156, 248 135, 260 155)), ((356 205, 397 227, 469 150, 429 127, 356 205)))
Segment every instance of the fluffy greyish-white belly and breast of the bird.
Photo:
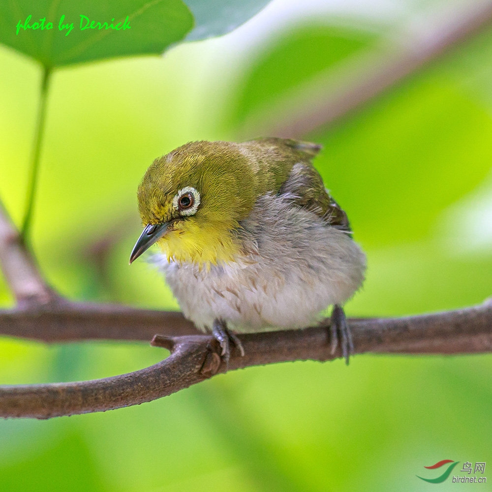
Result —
POLYGON ((215 318, 237 332, 306 327, 364 280, 365 255, 347 233, 287 200, 264 199, 237 233, 251 254, 210 270, 155 258, 184 315, 202 330, 215 318))

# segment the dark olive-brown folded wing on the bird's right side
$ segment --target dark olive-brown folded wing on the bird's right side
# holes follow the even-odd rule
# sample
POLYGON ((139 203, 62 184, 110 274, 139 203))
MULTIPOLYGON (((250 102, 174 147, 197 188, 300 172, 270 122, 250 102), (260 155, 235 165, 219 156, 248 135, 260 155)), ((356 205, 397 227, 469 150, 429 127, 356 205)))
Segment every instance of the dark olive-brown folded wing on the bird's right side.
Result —
POLYGON ((330 196, 323 179, 309 161, 294 164, 278 194, 287 195, 295 205, 322 217, 331 227, 352 233, 347 214, 330 196))

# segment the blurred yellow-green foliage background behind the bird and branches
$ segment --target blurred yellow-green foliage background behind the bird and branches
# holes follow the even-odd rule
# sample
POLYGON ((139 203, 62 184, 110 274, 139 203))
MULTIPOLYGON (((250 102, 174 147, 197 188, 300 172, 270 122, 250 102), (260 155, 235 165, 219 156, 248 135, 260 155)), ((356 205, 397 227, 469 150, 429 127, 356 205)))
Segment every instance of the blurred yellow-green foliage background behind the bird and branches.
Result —
MULTIPOLYGON (((278 108, 285 118, 344 64, 384 56, 397 33, 401 41, 443 3, 274 0, 237 30, 163 57, 55 72, 33 221, 49 280, 71 299, 177 309, 150 265, 128 267, 141 231, 135 190, 152 160, 190 140, 260 136, 255 124, 278 108)), ((316 166, 368 254, 348 315, 452 309, 492 295, 491 54, 492 28, 303 136, 324 145, 316 166)), ((4 47, 0 66, 0 196, 19 224, 41 72, 4 47)), ((0 300, 13 302, 3 283, 0 300)), ((8 338, 0 353, 2 384, 104 377, 165 356, 138 343, 8 338)), ((432 490, 415 475, 442 459, 486 461, 488 476, 491 363, 365 355, 349 367, 279 364, 137 407, 1 421, 0 488, 432 490)))

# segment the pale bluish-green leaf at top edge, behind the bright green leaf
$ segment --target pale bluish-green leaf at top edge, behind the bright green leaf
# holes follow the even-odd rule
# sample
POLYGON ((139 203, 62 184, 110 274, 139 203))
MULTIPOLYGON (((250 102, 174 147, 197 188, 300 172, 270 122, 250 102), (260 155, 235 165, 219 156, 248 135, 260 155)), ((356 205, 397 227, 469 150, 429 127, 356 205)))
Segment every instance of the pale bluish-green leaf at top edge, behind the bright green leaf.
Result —
POLYGON ((270 0, 186 0, 195 17, 187 41, 220 36, 236 29, 257 14, 270 0))

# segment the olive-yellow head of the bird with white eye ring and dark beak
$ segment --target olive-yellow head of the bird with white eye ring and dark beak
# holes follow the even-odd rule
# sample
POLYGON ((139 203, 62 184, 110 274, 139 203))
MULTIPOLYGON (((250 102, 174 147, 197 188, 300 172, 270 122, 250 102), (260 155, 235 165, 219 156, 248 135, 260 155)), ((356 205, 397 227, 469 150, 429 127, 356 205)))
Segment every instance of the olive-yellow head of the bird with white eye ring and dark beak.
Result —
POLYGON ((230 142, 191 142, 155 159, 138 187, 144 231, 130 263, 154 243, 175 261, 215 264, 239 251, 233 233, 254 206, 257 172, 230 142))

